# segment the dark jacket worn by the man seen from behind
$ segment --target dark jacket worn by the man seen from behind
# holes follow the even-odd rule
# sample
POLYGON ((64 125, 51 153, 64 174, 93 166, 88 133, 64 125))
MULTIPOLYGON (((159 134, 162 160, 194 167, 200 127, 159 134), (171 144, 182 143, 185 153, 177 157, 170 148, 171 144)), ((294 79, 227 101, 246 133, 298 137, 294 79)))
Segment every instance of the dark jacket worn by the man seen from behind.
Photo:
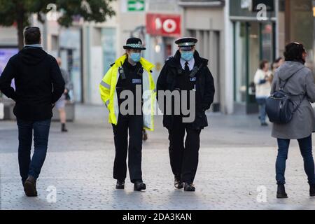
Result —
POLYGON ((14 114, 27 121, 52 118, 52 104, 64 93, 57 61, 41 48, 25 47, 10 58, 0 76, 0 90, 16 104, 14 114), (15 80, 15 90, 11 81, 15 80))

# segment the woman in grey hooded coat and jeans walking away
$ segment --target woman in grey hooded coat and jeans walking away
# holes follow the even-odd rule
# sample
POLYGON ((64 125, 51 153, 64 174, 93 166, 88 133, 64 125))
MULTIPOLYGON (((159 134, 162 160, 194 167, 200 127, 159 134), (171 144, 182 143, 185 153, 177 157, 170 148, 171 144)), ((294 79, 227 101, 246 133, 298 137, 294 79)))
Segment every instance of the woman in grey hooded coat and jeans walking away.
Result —
POLYGON ((313 73, 304 66, 307 52, 302 43, 289 43, 284 52, 285 62, 276 70, 271 93, 280 89, 290 96, 293 102, 293 117, 288 123, 274 123, 272 137, 278 142, 276 158, 276 183, 278 198, 286 198, 284 173, 290 139, 297 139, 304 160, 304 170, 310 186, 309 195, 315 196, 315 172, 312 155, 311 133, 315 125, 314 111, 311 103, 315 102, 315 85, 313 73))

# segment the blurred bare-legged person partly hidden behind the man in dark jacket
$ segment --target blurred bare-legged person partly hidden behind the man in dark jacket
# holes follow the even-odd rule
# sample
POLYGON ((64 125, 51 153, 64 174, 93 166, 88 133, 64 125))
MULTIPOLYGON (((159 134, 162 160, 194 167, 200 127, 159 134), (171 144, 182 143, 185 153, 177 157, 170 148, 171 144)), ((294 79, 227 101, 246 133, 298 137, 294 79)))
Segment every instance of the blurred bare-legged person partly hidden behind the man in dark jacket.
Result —
POLYGON ((73 89, 73 85, 70 79, 70 74, 65 69, 62 69, 62 60, 57 58, 57 62, 59 64, 60 71, 62 72, 62 77, 64 78, 65 89, 62 97, 57 101, 56 108, 59 111, 60 123, 61 123, 61 131, 68 132, 66 129, 66 101, 70 99, 69 92, 73 89))

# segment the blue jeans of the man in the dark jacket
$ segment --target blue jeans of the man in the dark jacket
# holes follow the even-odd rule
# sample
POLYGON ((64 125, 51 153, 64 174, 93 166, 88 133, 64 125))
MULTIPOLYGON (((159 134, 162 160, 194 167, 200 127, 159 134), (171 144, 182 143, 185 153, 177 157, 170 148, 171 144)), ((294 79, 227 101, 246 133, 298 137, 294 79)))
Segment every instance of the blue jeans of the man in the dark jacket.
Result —
POLYGON ((24 121, 18 120, 19 132, 19 165, 22 183, 24 184, 28 176, 38 179, 41 167, 46 158, 48 148, 48 136, 51 120, 24 121), (31 158, 31 144, 34 131, 34 154, 31 158))

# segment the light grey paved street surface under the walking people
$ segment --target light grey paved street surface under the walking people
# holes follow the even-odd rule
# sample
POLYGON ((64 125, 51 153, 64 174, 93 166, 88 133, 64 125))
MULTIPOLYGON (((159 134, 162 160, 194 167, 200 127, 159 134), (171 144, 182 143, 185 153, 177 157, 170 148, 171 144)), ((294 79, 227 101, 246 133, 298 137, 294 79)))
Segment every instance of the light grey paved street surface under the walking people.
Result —
POLYGON ((78 105, 76 118, 67 134, 52 123, 37 198, 25 197, 20 183, 17 127, 0 122, 1 209, 315 209, 294 141, 286 171, 289 199, 275 199, 276 141, 270 127, 259 126, 257 116, 209 114, 195 193, 173 188, 167 132, 160 117, 144 144, 148 189, 143 193, 132 191, 129 182, 126 190, 114 190, 113 134, 106 109, 78 105))

